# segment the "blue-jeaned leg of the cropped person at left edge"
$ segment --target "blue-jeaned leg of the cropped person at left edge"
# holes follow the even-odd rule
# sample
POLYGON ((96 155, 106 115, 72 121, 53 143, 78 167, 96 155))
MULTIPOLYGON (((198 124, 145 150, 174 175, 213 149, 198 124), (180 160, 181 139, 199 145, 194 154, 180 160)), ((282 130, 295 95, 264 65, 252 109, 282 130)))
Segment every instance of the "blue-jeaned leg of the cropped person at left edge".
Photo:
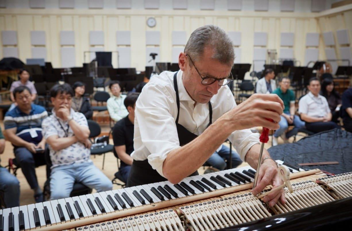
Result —
POLYGON ((0 167, 0 190, 3 191, 5 208, 19 206, 20 183, 14 175, 3 167, 0 167))

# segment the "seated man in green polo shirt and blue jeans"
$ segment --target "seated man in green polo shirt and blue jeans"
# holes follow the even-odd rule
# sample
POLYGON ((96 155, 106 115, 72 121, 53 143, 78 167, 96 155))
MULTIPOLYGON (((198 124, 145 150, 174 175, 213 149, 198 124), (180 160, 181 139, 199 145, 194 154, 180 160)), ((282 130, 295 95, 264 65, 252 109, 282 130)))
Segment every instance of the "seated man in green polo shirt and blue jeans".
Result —
POLYGON ((291 80, 288 77, 282 77, 279 81, 279 88, 274 90, 274 94, 277 94, 280 99, 284 102, 284 112, 282 113, 281 120, 279 122, 280 128, 275 131, 274 136, 272 137, 273 146, 277 145, 277 138, 281 136, 285 143, 287 139, 291 136, 297 134, 298 129, 304 126, 304 122, 300 119, 299 116, 295 115, 295 93, 293 90, 290 90, 291 80), (285 133, 288 129, 288 126, 293 124, 295 127, 289 132, 285 133))

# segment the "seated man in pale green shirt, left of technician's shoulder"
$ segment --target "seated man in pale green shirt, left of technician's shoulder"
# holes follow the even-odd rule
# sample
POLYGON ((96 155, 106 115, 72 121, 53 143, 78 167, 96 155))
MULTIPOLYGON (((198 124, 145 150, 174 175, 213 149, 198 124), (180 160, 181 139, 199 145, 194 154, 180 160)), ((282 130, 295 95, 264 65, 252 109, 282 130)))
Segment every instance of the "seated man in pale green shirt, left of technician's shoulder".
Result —
POLYGON ((128 111, 124 106, 124 100, 126 98, 126 95, 121 94, 119 81, 112 81, 109 85, 109 88, 113 95, 108 99, 108 101, 106 102, 106 105, 107 105, 110 117, 115 122, 117 122, 128 115, 128 111))

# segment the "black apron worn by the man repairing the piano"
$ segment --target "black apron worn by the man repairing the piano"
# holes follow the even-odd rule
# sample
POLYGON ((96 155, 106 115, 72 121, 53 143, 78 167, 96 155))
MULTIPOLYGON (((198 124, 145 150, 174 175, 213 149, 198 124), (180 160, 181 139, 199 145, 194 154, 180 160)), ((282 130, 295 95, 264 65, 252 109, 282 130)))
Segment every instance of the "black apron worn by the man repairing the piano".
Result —
MULTIPOLYGON (((178 124, 178 116, 180 115, 180 98, 178 96, 178 87, 177 87, 177 75, 178 72, 174 75, 174 88, 176 92, 176 104, 177 104, 177 117, 176 117, 176 128, 177 128, 177 136, 180 141, 180 146, 186 145, 189 142, 193 141, 198 136, 194 133, 188 131, 184 126, 178 124)), ((209 101, 209 124, 212 124, 212 104, 209 101)), ((191 176, 198 175, 198 171, 195 171, 191 176)), ((167 181, 165 177, 162 177, 155 169, 153 169, 148 159, 144 161, 136 161, 133 160, 130 176, 128 177, 127 187, 137 186, 137 185, 145 185, 149 183, 156 183, 161 181, 167 181)))

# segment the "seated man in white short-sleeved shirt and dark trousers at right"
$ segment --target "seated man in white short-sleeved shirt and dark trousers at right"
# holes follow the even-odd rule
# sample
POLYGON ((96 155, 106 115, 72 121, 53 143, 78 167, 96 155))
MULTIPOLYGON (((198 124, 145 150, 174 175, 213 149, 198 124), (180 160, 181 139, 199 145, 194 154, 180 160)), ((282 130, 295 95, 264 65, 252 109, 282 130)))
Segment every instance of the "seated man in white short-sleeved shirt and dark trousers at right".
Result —
POLYGON ((332 115, 326 98, 319 94, 320 82, 316 77, 309 80, 309 93, 298 102, 298 113, 312 132, 322 132, 339 127, 331 121, 332 115))

